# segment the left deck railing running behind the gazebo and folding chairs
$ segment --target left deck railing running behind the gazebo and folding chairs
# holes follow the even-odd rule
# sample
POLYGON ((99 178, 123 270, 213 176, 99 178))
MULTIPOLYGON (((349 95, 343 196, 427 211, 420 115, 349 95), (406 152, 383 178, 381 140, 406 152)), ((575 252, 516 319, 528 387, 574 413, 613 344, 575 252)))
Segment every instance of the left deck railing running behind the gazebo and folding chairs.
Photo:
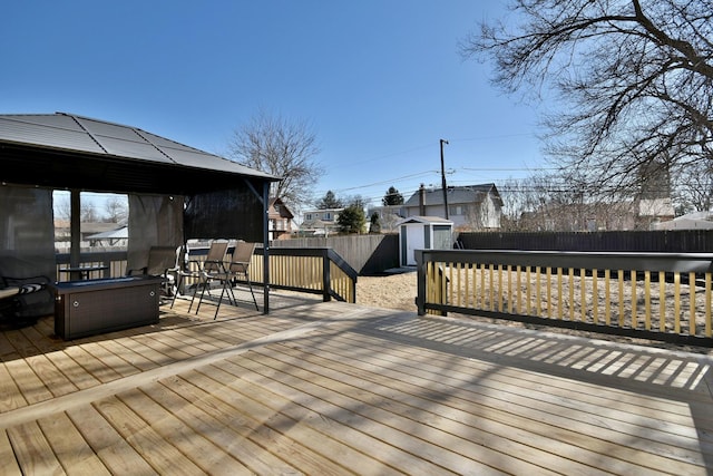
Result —
MULTIPOLYGON (((192 249, 191 266, 197 269, 207 247, 192 249)), ((126 252, 81 253, 80 264, 101 265, 106 270, 91 272, 89 278, 117 278, 126 274, 126 252)), ((69 254, 57 254, 57 281, 69 281, 69 273, 60 271, 69 265, 69 254)), ((263 249, 257 247, 250 266, 251 282, 263 285, 263 249)), ((330 247, 270 250, 270 286, 322 294, 324 301, 356 302, 356 271, 330 247)), ((187 284, 193 284, 191 281, 187 284)))

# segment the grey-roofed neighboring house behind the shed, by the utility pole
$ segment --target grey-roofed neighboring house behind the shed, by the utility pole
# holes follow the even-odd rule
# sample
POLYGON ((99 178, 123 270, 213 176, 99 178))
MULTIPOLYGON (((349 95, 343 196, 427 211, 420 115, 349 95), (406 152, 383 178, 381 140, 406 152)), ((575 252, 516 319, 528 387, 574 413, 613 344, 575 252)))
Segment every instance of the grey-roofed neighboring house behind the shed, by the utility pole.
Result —
MULTIPOLYGON (((495 184, 452 186, 447 188, 448 220, 458 231, 497 230, 502 216, 502 198, 495 184)), ((442 188, 423 184, 403 204, 406 217, 446 217, 442 188)))

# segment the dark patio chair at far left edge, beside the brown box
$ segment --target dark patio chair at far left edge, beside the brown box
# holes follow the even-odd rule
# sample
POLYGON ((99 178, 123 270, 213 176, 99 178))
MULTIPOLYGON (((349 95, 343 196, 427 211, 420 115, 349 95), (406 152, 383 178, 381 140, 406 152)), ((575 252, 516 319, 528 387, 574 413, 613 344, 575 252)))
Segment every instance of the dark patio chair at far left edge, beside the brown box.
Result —
POLYGON ((47 276, 10 278, 0 275, 0 328, 33 326, 51 314, 55 297, 47 276))

